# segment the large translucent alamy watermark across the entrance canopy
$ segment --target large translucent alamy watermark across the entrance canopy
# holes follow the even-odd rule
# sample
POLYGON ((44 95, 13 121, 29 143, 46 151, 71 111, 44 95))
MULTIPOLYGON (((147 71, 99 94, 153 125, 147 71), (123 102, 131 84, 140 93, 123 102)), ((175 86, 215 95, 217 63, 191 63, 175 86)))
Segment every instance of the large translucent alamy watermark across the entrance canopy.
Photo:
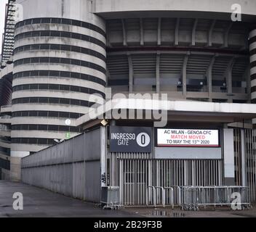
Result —
POLYGON ((95 102, 89 109, 90 119, 154 120, 154 126, 167 125, 168 94, 113 94, 106 88, 103 99, 98 94, 89 96, 95 102))

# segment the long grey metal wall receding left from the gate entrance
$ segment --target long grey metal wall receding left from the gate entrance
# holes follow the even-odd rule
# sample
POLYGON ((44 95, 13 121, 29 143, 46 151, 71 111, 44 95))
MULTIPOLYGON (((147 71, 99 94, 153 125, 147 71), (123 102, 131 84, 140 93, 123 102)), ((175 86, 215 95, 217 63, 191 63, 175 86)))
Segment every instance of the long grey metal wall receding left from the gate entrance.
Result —
POLYGON ((100 129, 23 158, 22 181, 100 202, 100 129))

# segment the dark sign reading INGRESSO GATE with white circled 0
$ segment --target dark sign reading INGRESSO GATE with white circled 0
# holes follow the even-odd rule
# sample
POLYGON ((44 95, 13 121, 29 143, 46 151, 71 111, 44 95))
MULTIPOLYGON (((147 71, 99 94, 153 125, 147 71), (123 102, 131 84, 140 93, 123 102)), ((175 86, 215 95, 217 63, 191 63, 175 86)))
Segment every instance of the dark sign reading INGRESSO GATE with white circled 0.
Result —
POLYGON ((110 127, 110 152, 151 152, 152 129, 145 127, 110 127))

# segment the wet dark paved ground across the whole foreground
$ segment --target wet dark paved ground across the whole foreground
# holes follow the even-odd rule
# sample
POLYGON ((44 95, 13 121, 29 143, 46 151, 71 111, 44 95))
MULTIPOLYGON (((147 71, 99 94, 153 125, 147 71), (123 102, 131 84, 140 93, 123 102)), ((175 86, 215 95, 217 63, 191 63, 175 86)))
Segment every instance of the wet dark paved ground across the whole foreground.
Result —
POLYGON ((201 210, 187 212, 180 209, 125 208, 123 210, 102 210, 96 204, 81 202, 45 189, 28 186, 23 183, 0 181, 0 218, 20 217, 167 217, 167 218, 233 218, 256 217, 256 207, 252 210, 232 211, 228 209, 201 210), (22 211, 12 208, 12 195, 23 193, 24 206, 22 211))

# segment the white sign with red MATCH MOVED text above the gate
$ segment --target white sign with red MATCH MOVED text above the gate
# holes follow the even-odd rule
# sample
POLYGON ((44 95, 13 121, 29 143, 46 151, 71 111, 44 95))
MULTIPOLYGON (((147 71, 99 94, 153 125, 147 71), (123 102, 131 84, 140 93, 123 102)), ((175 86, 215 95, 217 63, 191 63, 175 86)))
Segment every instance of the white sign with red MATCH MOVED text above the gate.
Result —
POLYGON ((157 146, 218 147, 219 130, 157 129, 157 146))

